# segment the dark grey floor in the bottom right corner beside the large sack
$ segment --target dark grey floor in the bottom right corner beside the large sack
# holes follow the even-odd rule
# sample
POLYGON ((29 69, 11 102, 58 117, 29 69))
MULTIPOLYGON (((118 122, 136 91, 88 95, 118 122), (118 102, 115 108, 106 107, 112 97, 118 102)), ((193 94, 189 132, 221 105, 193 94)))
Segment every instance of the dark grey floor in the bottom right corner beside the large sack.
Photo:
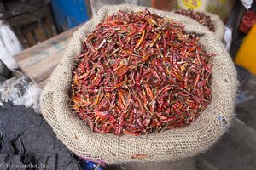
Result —
POLYGON ((219 170, 255 170, 255 144, 256 131, 234 120, 229 131, 202 157, 219 170))

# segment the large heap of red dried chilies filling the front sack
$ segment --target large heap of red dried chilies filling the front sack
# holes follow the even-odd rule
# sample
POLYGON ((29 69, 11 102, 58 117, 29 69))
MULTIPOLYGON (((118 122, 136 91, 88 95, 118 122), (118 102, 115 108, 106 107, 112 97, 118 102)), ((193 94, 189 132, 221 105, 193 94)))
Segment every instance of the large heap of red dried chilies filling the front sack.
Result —
POLYGON ((184 127, 211 102, 213 54, 174 20, 119 11, 82 48, 70 101, 94 132, 137 136, 184 127))

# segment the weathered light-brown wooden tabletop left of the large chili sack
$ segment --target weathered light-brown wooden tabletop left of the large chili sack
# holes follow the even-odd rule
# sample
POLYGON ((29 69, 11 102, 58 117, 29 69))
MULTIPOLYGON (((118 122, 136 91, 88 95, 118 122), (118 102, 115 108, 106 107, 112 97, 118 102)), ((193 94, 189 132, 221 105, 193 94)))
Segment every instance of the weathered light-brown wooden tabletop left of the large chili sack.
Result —
POLYGON ((34 82, 43 82, 50 76, 55 66, 60 63, 73 32, 78 28, 79 26, 65 31, 58 36, 16 54, 14 58, 18 65, 20 65, 21 70, 34 82))

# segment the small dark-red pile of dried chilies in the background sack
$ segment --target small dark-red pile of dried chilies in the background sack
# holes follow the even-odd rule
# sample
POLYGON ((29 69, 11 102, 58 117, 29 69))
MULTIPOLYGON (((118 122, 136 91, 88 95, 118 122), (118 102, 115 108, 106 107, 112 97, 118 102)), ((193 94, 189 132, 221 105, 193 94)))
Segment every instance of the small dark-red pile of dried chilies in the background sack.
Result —
POLYGON ((186 10, 186 9, 181 9, 181 10, 176 10, 176 14, 181 14, 184 16, 189 16, 189 18, 196 20, 199 22, 202 26, 206 26, 208 30, 215 32, 215 25, 211 20, 211 17, 204 12, 199 12, 199 11, 193 11, 191 9, 186 10))

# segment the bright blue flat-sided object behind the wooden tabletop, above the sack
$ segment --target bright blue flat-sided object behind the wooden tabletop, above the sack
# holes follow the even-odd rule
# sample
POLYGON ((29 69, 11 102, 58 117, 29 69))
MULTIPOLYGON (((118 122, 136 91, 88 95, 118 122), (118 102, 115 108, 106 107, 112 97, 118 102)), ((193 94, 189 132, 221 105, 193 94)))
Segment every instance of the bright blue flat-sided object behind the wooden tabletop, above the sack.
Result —
POLYGON ((59 31, 90 20, 85 0, 51 0, 51 8, 59 31))

